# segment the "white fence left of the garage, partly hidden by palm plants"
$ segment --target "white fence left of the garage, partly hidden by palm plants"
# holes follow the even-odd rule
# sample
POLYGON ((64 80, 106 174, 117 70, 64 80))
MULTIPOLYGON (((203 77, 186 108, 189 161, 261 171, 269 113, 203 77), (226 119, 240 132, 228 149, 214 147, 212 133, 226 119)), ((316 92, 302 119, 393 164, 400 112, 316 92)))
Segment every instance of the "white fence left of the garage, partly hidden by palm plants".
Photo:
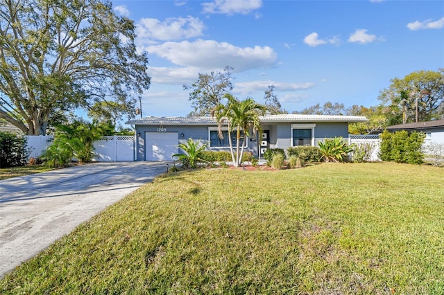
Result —
MULTIPOLYGON (((53 141, 53 136, 26 136, 28 148, 31 150, 29 157, 40 157, 53 141)), ((134 160, 134 136, 105 136, 99 141, 94 141, 94 161, 114 162, 134 160)))

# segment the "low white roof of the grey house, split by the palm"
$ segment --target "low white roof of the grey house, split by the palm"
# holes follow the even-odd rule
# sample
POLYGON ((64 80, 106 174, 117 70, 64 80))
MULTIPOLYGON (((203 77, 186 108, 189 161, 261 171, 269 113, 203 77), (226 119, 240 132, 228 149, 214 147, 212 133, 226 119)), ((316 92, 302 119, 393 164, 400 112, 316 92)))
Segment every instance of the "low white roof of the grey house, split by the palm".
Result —
MULTIPOLYGON (((367 122, 363 116, 333 116, 333 115, 300 115, 281 114, 259 117, 262 123, 314 123, 314 122, 367 122)), ((216 118, 203 117, 146 117, 129 120, 126 124, 133 125, 216 125, 216 118)))

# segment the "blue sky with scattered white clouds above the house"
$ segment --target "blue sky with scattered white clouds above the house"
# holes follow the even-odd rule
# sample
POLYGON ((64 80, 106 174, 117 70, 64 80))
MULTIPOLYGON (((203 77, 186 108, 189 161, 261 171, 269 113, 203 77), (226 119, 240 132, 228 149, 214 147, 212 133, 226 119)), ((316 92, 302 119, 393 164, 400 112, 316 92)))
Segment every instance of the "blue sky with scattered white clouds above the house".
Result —
POLYGON ((444 1, 112 1, 137 25, 151 87, 144 116, 186 116, 198 73, 234 68, 239 99, 287 111, 378 105, 392 78, 444 67, 444 1))

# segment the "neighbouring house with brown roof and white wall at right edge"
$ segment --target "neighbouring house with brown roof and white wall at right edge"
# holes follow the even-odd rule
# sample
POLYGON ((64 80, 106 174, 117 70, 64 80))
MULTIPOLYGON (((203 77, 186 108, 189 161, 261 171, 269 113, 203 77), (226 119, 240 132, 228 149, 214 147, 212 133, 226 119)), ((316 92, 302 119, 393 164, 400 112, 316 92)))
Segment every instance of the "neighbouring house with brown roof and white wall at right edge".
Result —
POLYGON ((422 132, 425 134, 424 143, 444 144, 444 120, 392 125, 386 128, 390 132, 406 130, 407 132, 422 132))

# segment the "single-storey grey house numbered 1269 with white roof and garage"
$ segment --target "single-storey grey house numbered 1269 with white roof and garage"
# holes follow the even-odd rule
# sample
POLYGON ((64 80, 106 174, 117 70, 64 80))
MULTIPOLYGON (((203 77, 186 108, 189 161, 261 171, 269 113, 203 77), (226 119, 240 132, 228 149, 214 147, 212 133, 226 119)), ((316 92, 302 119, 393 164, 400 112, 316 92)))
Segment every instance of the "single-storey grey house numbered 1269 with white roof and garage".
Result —
MULTIPOLYGON (((264 134, 246 138, 245 150, 259 159, 267 148, 298 145, 317 146, 324 138, 342 136, 348 139, 348 123, 366 122, 363 116, 324 116, 282 114, 260 117, 264 134)), ((219 138, 216 119, 207 117, 146 117, 126 124, 136 129, 136 161, 171 161, 177 154, 178 143, 188 138, 208 143, 207 150, 229 150, 226 127, 219 138)), ((235 134, 232 134, 235 146, 235 134)))

